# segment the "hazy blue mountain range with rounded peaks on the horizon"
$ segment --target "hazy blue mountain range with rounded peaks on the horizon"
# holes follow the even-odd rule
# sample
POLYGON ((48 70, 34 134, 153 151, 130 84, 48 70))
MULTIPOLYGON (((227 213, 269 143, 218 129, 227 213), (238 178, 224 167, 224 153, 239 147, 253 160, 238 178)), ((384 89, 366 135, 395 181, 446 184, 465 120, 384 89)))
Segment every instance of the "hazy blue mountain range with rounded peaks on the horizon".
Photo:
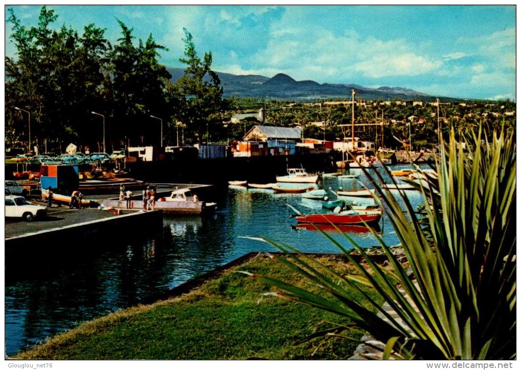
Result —
MULTIPOLYGON (((176 82, 184 73, 181 68, 168 68, 172 82, 176 82)), ((268 78, 262 75, 236 75, 216 72, 221 80, 224 97, 257 97, 266 99, 320 100, 320 99, 351 99, 351 90, 356 91, 356 97, 365 100, 413 100, 433 101, 430 95, 410 90, 404 87, 382 86, 378 88, 364 87, 355 84, 319 84, 305 80, 295 81, 287 74, 279 73, 268 78)))

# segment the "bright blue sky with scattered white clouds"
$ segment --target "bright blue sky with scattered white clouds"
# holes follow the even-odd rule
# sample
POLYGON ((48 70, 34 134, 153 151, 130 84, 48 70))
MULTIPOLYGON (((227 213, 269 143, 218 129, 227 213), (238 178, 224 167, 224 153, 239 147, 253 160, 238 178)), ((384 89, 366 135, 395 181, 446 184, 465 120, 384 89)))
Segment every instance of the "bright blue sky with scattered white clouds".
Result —
MULTIPOLYGON (((13 6, 27 27, 40 6, 13 6)), ((401 86, 435 96, 516 98, 516 9, 506 6, 48 6, 80 33, 106 29, 115 43, 116 19, 134 36, 169 50, 160 62, 183 67, 183 28, 213 69, 234 74, 286 73, 295 80, 401 86)), ((6 11, 7 15, 7 11, 6 11)), ((6 55, 15 49, 5 25, 6 55)))

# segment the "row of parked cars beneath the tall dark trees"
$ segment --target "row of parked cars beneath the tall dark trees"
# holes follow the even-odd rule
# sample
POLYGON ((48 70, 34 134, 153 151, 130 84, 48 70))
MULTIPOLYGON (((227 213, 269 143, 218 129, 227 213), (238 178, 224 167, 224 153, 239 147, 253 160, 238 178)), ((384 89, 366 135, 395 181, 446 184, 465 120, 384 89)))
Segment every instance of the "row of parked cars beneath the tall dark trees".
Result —
POLYGON ((92 164, 92 163, 105 163, 117 159, 125 158, 125 151, 115 151, 112 154, 107 153, 91 153, 83 154, 81 152, 74 154, 62 154, 59 156, 51 155, 38 155, 29 157, 27 154, 20 154, 14 161, 31 163, 31 164, 51 164, 51 163, 63 163, 63 164, 92 164))

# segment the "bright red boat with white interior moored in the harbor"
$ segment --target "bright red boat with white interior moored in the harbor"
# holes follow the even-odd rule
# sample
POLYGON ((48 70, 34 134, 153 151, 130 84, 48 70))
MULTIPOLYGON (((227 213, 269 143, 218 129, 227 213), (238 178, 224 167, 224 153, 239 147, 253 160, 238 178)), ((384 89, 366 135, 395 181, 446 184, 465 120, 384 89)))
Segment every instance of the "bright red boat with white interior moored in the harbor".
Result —
POLYGON ((296 222, 314 224, 356 225, 376 224, 382 216, 381 210, 349 210, 340 213, 317 213, 297 216, 296 222))

